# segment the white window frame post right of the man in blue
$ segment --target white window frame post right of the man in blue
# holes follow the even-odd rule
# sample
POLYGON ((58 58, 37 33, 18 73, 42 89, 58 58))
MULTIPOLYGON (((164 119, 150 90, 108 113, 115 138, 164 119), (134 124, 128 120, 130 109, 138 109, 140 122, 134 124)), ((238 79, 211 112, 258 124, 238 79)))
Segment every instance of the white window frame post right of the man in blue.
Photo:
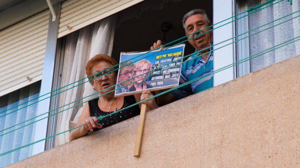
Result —
MULTIPOLYGON (((213 0, 213 23, 218 23, 222 20, 228 19, 235 14, 235 1, 234 0, 213 0)), ((230 22, 234 18, 222 22, 214 28, 230 22)), ((224 25, 220 28, 214 29, 214 44, 230 39, 235 35, 235 22, 224 25)), ((214 49, 223 45, 234 42, 234 39, 223 42, 214 46, 214 49)), ((214 51, 214 71, 223 68, 229 64, 235 62, 235 44, 230 44, 226 47, 217 49, 214 51)), ((226 83, 235 78, 235 67, 230 67, 224 71, 220 71, 214 74, 214 86, 226 83)))

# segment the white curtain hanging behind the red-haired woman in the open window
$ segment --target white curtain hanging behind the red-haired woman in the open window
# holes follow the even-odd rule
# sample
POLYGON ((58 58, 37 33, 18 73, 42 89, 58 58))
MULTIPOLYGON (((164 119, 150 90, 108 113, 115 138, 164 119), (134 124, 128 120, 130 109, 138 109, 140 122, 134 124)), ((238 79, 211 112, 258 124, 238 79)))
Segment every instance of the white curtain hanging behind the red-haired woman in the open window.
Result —
MULTIPOLYGON (((116 27, 116 16, 111 16, 101 20, 91 26, 79 30, 78 35, 73 33, 67 36, 64 54, 64 65, 62 70, 61 87, 78 81, 85 75, 85 64, 96 54, 111 55, 113 49, 113 38, 116 27), (78 36, 78 37, 77 37, 78 36)), ((84 80, 84 81, 87 81, 84 80)), ((82 83, 82 82, 79 82, 82 83)), ((78 84, 78 83, 76 83, 78 84)), ((70 87, 72 87, 71 85, 70 87)), ((65 91, 59 96, 58 107, 64 106, 82 97, 95 93, 91 85, 87 82, 79 87, 65 91)), ((58 111, 66 111, 57 115, 56 133, 73 128, 77 123, 83 106, 68 109, 78 103, 90 100, 93 97, 84 98, 83 101, 71 103, 58 111), (73 120, 73 121, 71 121, 73 120)), ((69 132, 55 137, 55 146, 69 141, 69 132)))

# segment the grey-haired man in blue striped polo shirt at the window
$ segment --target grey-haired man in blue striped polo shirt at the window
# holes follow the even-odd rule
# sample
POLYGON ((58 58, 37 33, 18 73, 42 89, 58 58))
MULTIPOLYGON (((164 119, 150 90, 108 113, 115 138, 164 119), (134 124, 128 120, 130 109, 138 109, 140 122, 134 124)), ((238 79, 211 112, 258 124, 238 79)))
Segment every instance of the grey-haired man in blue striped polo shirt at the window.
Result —
MULTIPOLYGON (((200 51, 197 54, 193 54, 186 60, 186 62, 182 64, 179 85, 212 72, 214 59, 213 52, 211 52, 211 45, 213 41, 211 31, 212 28, 205 29, 206 27, 211 25, 211 21, 208 19, 205 10, 191 10, 184 15, 182 24, 188 38, 192 38, 188 40, 188 42, 196 49, 196 51, 203 51, 200 51), (197 36, 199 34, 202 35, 197 36)), ((153 44, 151 50, 154 50, 155 48, 158 48, 160 46, 161 41, 158 40, 157 43, 153 44)), ((189 85, 185 85, 181 88, 171 91, 167 93, 167 95, 158 97, 158 103, 160 105, 171 103, 175 100, 187 97, 191 94, 198 93, 211 87, 213 87, 213 75, 209 75, 189 85)), ((159 92, 161 91, 157 91, 157 93, 159 92)))

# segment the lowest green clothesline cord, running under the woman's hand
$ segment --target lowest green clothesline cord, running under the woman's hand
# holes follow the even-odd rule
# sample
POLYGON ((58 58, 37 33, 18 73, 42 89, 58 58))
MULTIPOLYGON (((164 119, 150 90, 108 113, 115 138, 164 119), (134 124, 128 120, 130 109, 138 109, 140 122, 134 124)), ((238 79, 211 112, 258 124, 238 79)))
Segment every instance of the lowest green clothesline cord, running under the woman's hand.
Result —
MULTIPOLYGON (((274 50, 276 50, 276 49, 278 49, 278 48, 280 48, 280 47, 289 45, 289 44, 291 44, 291 43, 293 43, 293 42, 296 42, 296 41, 300 40, 300 39, 297 39, 297 38, 299 38, 299 37, 300 37, 300 36, 295 37, 295 38, 290 39, 290 40, 288 40, 288 41, 286 41, 286 42, 283 42, 283 43, 281 43, 281 44, 279 44, 279 45, 276 45, 276 46, 274 46, 274 47, 271 47, 271 48, 269 48, 269 49, 267 49, 267 50, 265 50, 265 51, 262 51, 262 52, 260 52, 260 53, 254 54, 253 56, 249 56, 249 57, 247 57, 247 58, 245 58, 245 59, 242 59, 242 60, 239 60, 239 61, 234 62, 234 63, 232 63, 232 64, 229 64, 229 65, 227 65, 227 66, 225 66, 225 67, 223 67, 223 68, 220 68, 220 69, 218 69, 218 70, 216 70, 216 71, 213 71, 213 72, 211 72, 211 73, 209 73, 209 74, 207 74, 207 75, 204 75, 204 76, 202 76, 202 77, 198 77, 198 78, 196 78, 196 79, 194 79, 194 80, 190 80, 190 81, 188 81, 188 82, 186 82, 186 83, 184 83, 184 84, 182 84, 182 85, 179 85, 179 86, 177 86, 177 87, 175 87, 175 88, 171 88, 171 89, 169 89, 169 90, 167 90, 167 91, 164 91, 164 92, 162 92, 162 93, 160 93, 160 94, 154 95, 153 97, 150 97, 150 98, 148 98, 148 99, 146 99, 146 100, 143 100, 143 101, 140 101, 140 102, 138 102, 138 103, 135 103, 135 104, 133 104, 133 105, 131 105, 131 106, 128 106, 128 107, 126 107, 126 108, 124 108, 124 109, 115 111, 115 112, 113 112, 113 113, 111 113, 111 114, 109 114, 109 115, 100 116, 100 117, 98 117, 98 120, 101 120, 101 119, 103 119, 103 118, 105 118, 105 117, 108 117, 108 116, 110 116, 110 115, 112 115, 112 114, 116 114, 117 112, 121 112, 122 110, 128 109, 128 108, 130 108, 130 107, 136 106, 136 105, 138 105, 138 104, 140 104, 140 103, 143 103, 143 102, 148 101, 148 100, 150 100, 150 99, 153 99, 153 98, 155 98, 155 97, 158 97, 158 96, 161 96, 161 95, 163 95, 163 94, 166 94, 166 93, 168 93, 168 92, 170 92, 170 91, 173 91, 173 90, 175 90, 175 89, 177 89, 177 88, 181 88, 181 87, 183 87, 183 86, 185 86, 185 85, 189 85, 190 83, 193 83, 193 82, 195 82, 195 81, 197 81, 197 80, 200 80, 200 79, 202 79, 202 78, 204 78, 204 77, 207 77, 207 76, 209 76, 209 75, 218 73, 218 72, 220 72, 220 71, 226 70, 227 68, 233 67, 233 66, 238 65, 238 64, 241 64, 241 63, 243 63, 243 62, 245 62, 245 61, 249 61, 250 59, 253 59, 253 58, 256 58, 256 57, 258 57, 258 56, 264 55, 264 54, 266 54, 266 53, 268 53, 268 52, 274 51, 274 50), (296 39, 297 39, 297 40, 296 40, 296 39), (294 41, 292 41, 292 40, 294 40, 294 41), (283 45, 284 43, 286 43, 286 44, 283 45), (280 46, 280 45, 282 45, 282 46, 280 46), (276 47, 277 47, 277 48, 276 48, 276 47), (270 50, 270 51, 268 51, 268 50, 270 50), (265 53, 263 53, 263 52, 265 52, 265 53)), ((47 140, 47 139, 49 139, 49 138, 53 138, 53 137, 55 137, 55 136, 61 135, 61 134, 65 133, 65 132, 69 132, 69 131, 71 131, 71 130, 77 129, 77 128, 82 127, 82 126, 83 126, 83 125, 80 125, 80 126, 77 126, 77 127, 72 128, 72 129, 66 130, 66 131, 64 131, 64 132, 60 132, 60 133, 58 133, 58 134, 55 134, 55 135, 46 137, 46 138, 44 138, 44 139, 35 141, 35 142, 33 142, 33 143, 29 143, 29 144, 27 144, 27 145, 21 146, 21 147, 19 147, 19 148, 12 149, 12 150, 10 150, 10 151, 1 153, 1 154, 0 154, 0 157, 3 156, 3 155, 7 155, 8 153, 17 151, 17 150, 19 150, 19 149, 22 149, 22 148, 31 146, 31 145, 33 145, 33 144, 35 144, 35 143, 39 143, 39 142, 44 141, 44 140, 47 140)))

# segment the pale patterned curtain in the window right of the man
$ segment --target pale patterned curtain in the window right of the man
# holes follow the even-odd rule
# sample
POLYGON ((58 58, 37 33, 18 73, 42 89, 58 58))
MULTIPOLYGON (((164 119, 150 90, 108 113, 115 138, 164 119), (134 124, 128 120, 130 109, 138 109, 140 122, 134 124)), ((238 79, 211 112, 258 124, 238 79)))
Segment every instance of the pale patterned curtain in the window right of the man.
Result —
MULTIPOLYGON (((255 6, 263 3, 265 0, 249 0, 248 6, 255 6)), ((273 3, 276 3, 274 1, 273 3)), ((296 12, 300 9, 299 0, 293 1, 293 5, 290 5, 288 1, 282 1, 278 4, 274 4, 271 7, 263 9, 249 16, 249 30, 259 27, 260 25, 279 19, 290 13, 296 12)), ((280 19, 276 22, 268 24, 258 30, 252 31, 251 34, 264 30, 273 25, 277 25, 295 16, 299 16, 300 12, 297 12, 291 16, 280 19)), ((274 28, 265 30, 261 33, 250 37, 250 55, 264 51, 270 47, 279 45, 285 41, 300 36, 300 17, 292 19, 281 25, 277 25, 274 28)), ((268 52, 263 56, 256 57, 250 60, 250 71, 256 71, 274 63, 289 59, 293 56, 300 54, 300 41, 293 42, 284 47, 278 48, 275 51, 268 52)))

